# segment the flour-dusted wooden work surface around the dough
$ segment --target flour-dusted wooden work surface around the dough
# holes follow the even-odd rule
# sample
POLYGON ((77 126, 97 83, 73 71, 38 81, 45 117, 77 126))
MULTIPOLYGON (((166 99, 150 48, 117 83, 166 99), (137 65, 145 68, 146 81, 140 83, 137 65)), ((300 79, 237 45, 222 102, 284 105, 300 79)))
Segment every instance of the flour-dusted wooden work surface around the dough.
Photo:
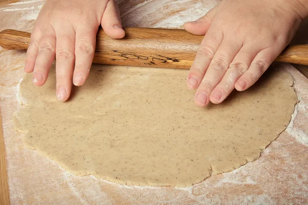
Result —
MULTIPOLYGON (((202 16, 218 1, 118 2, 126 27, 182 28, 184 22, 202 16)), ((0 30, 30 32, 43 3, 0 0, 0 30)), ((307 21, 293 44, 308 44, 302 34, 307 31, 306 25, 307 21)), ((275 64, 295 79, 299 103, 290 125, 260 158, 233 172, 213 175, 195 186, 172 188, 119 186, 92 176, 73 176, 40 153, 25 148, 23 135, 14 132, 12 121, 13 113, 20 106, 16 93, 17 84, 25 75, 24 60, 25 51, 0 48, 0 125, 3 127, 2 137, 0 126, 0 204, 8 203, 8 198, 1 195, 5 193, 6 189, 2 188, 6 183, 12 204, 308 203, 308 80, 292 65, 275 64), (7 169, 3 169, 5 162, 7 169)))

